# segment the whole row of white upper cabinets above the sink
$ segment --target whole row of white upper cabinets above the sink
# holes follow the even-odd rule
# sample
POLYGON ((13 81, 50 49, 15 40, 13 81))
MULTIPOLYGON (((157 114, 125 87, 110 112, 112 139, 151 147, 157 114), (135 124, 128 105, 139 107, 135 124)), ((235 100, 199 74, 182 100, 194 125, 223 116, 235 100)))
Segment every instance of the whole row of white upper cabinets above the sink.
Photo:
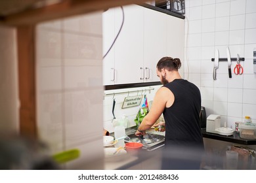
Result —
POLYGON ((164 56, 184 57, 184 20, 139 5, 103 13, 104 85, 159 82, 156 64, 164 56), (175 27, 175 31, 173 31, 175 27))

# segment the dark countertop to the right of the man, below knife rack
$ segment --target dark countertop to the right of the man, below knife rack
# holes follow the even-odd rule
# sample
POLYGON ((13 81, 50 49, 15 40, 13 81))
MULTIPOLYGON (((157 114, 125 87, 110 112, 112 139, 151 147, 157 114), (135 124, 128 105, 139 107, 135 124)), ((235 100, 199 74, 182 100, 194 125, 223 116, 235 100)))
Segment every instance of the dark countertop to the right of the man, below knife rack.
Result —
POLYGON ((256 140, 242 139, 239 136, 239 133, 234 132, 233 135, 224 136, 216 133, 206 132, 206 129, 202 129, 202 135, 207 139, 215 139, 219 141, 233 142, 236 144, 244 144, 244 145, 256 145, 256 140))

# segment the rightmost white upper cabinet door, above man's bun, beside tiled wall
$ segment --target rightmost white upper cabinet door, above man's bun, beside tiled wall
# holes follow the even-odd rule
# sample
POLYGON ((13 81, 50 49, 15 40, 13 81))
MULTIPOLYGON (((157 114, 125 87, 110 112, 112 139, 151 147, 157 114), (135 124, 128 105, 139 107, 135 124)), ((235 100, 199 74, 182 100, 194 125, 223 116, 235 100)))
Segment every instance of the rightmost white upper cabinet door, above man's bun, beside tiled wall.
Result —
POLYGON ((167 55, 181 59, 179 73, 184 77, 184 25, 181 18, 167 16, 167 55))

